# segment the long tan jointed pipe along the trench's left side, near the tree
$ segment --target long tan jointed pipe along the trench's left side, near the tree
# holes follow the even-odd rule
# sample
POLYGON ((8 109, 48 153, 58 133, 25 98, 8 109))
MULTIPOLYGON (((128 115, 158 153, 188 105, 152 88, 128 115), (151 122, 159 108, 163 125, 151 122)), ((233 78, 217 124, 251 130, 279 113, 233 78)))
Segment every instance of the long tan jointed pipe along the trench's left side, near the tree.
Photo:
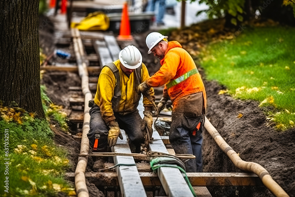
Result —
MULTIPOLYGON (((75 55, 78 64, 78 72, 81 77, 82 82, 82 92, 85 96, 84 101, 84 120, 83 120, 83 128, 82 128, 82 139, 81 139, 81 149, 80 154, 88 154, 89 151, 89 139, 87 137, 87 133, 89 132, 89 121, 90 115, 88 107, 88 101, 92 100, 92 94, 89 90, 89 77, 87 66, 84 61, 82 61, 82 56, 84 55, 82 40, 80 37, 80 33, 78 29, 72 29, 73 35, 73 44, 75 55)), ((88 162, 88 157, 79 157, 78 163, 75 171, 75 186, 76 193, 78 197, 89 197, 89 192, 86 186, 85 179, 85 170, 88 162)))

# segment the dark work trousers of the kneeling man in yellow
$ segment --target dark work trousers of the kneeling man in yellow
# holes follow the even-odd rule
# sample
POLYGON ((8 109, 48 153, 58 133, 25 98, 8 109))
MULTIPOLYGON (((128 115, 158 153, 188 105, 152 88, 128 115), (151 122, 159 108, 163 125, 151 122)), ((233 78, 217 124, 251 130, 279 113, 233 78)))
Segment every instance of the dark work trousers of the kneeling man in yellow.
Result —
MULTIPOLYGON (((91 149, 94 145, 94 136, 96 133, 100 134, 98 150, 105 149, 107 146, 107 137, 109 134, 109 128, 101 117, 99 107, 95 106, 89 110, 90 114, 90 130, 87 134, 89 139, 89 145, 91 149)), ((119 124, 120 129, 126 131, 131 146, 135 146, 135 152, 140 152, 141 143, 144 143, 144 132, 140 129, 142 118, 140 117, 138 110, 127 114, 120 115, 114 112, 116 121, 119 124)))

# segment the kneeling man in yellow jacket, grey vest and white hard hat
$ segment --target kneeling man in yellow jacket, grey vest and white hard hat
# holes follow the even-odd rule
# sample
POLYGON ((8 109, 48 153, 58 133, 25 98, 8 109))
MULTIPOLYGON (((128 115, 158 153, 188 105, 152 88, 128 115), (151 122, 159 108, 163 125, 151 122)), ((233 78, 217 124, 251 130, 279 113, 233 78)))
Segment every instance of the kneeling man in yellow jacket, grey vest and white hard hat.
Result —
MULTIPOLYGON (((107 144, 115 146, 120 129, 126 131, 135 152, 141 151, 144 130, 152 131, 153 104, 145 96, 144 118, 137 106, 141 95, 137 93, 140 83, 149 79, 148 69, 142 63, 142 55, 135 46, 127 46, 119 53, 119 59, 105 65, 99 75, 94 103, 89 102, 90 130, 87 134, 93 151, 106 151, 107 144)), ((153 88, 150 95, 155 99, 153 88)))

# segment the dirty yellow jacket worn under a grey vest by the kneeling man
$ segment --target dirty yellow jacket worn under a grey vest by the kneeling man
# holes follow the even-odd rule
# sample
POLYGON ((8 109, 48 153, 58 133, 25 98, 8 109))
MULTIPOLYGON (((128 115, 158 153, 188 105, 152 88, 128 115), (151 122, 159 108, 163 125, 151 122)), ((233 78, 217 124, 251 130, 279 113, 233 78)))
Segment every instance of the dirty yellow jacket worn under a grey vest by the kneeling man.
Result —
MULTIPOLYGON (((128 78, 128 76, 122 71, 120 67, 120 60, 116 60, 113 63, 119 70, 121 85, 121 99, 117 112, 125 115, 136 110, 138 106, 138 100, 141 95, 138 95, 138 93, 135 92, 137 91, 137 87, 134 88, 134 83, 136 83, 135 72, 132 72, 128 78)), ((150 76, 148 74, 148 69, 144 64, 142 64, 140 83, 149 78, 150 76)), ((100 113, 104 122, 109 122, 116 119, 114 116, 114 111, 112 109, 112 98, 114 96, 114 89, 116 84, 116 77, 114 76, 113 72, 107 66, 104 66, 99 75, 97 90, 94 97, 94 103, 99 106, 100 113)), ((150 89, 150 95, 154 97, 153 88, 150 89)), ((153 104, 148 100, 147 97, 144 96, 143 106, 147 108, 152 107, 153 104)))

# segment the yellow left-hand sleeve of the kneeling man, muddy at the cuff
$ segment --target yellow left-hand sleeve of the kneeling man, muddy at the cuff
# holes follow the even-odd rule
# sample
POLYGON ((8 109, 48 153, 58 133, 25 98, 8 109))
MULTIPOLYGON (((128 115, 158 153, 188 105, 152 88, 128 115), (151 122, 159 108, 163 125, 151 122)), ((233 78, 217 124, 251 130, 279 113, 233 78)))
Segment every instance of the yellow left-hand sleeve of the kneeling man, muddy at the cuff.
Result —
POLYGON ((114 89, 116 79, 110 69, 106 73, 99 76, 98 90, 100 91, 100 113, 104 122, 115 120, 114 112, 112 109, 112 98, 114 96, 114 89))

